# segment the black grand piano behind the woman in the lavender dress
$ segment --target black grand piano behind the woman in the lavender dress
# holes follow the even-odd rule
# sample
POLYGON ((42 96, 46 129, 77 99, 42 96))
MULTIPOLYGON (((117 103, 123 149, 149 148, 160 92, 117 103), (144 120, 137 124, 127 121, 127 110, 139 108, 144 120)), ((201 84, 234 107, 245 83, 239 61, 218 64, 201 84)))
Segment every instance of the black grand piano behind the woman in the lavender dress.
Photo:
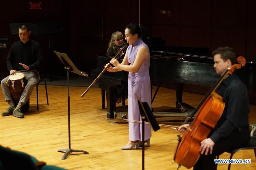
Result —
MULTIPOLYGON (((207 48, 151 46, 150 50, 150 79, 152 84, 159 85, 159 89, 161 84, 172 82, 176 88, 176 108, 193 109, 192 106, 182 101, 184 84, 211 87, 219 79, 219 75, 213 69, 213 57, 207 48)), ((97 56, 97 60, 98 66, 92 71, 92 77, 98 76, 110 58, 97 56)), ((236 74, 247 85, 250 102, 256 104, 256 63, 247 62, 245 68, 237 70, 236 74)), ((106 91, 108 119, 115 119, 114 88, 117 85, 127 84, 127 75, 126 71, 111 73, 106 71, 98 80, 99 87, 102 91, 106 91)), ((103 99, 105 100, 105 96, 102 94, 102 108, 104 106, 103 99)))

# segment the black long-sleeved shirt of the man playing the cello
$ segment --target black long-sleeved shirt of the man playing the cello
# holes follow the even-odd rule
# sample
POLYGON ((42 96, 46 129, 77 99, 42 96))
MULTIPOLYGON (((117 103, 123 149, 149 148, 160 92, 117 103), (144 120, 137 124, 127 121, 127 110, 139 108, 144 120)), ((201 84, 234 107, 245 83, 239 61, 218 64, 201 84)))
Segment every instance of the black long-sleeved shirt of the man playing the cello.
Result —
POLYGON ((216 92, 223 97, 225 108, 210 135, 213 142, 228 137, 239 127, 248 127, 250 112, 247 88, 235 74, 224 79, 216 92))

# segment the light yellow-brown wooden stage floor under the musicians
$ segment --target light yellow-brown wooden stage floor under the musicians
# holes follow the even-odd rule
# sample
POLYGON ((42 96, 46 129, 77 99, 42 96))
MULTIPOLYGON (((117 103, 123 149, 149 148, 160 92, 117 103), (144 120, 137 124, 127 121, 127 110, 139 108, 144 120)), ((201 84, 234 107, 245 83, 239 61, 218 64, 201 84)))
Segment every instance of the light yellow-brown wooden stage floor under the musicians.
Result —
MULTIPOLYGON (((101 91, 92 88, 85 97, 80 97, 84 87, 70 87, 71 148, 85 150, 61 160, 63 153, 58 149, 68 148, 67 87, 49 86, 49 106, 46 104, 45 88, 39 86, 39 111, 36 108, 36 91, 30 97, 30 111, 24 119, 13 116, 0 117, 0 144, 33 155, 48 165, 69 170, 139 170, 141 148, 121 150, 128 142, 128 124, 115 123, 106 119, 106 109, 101 109, 101 91)), ((153 88, 153 92, 156 87, 153 88)), ((197 106, 203 95, 184 92, 183 101, 197 106)), ((172 89, 160 88, 153 107, 175 106, 176 94, 172 89)), ((126 101, 127 104, 127 101, 126 101)), ((121 106, 118 104, 117 106, 121 106)), ((0 112, 7 103, 0 92, 0 112)), ((256 105, 250 105, 250 123, 256 124, 256 105)), ((175 130, 161 128, 152 131, 151 147, 145 150, 146 170, 176 170, 173 152, 177 144, 175 130)), ((228 154, 220 156, 228 159, 228 154)), ((233 164, 232 170, 255 170, 253 150, 239 151, 233 159, 251 159, 251 164, 233 164)), ((15 160, 13 160, 15 162, 15 160)), ((226 164, 218 170, 226 170, 226 164)), ((191 168, 192 169, 192 168, 191 168)), ((186 170, 181 167, 180 170, 186 170)))

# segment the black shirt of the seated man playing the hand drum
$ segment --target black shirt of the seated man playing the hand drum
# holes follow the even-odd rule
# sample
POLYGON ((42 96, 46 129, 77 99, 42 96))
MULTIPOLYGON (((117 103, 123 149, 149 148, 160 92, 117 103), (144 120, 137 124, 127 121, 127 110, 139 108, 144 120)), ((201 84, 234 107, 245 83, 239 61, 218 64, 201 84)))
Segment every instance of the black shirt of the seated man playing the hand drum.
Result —
POLYGON ((24 70, 19 63, 26 64, 30 70, 39 69, 41 60, 43 60, 43 53, 38 42, 30 39, 24 44, 19 40, 13 43, 6 57, 7 69, 9 71, 11 69, 24 70), (14 66, 13 61, 15 61, 14 66))

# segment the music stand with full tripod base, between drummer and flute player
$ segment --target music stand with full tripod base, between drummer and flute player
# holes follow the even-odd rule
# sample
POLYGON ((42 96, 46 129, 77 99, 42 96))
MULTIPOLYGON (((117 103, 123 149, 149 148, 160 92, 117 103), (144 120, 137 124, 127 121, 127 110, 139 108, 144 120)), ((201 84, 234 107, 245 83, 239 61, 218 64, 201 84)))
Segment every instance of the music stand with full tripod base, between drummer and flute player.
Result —
POLYGON ((65 53, 59 53, 57 51, 54 51, 54 53, 56 53, 56 55, 59 57, 59 59, 61 60, 61 62, 64 64, 65 69, 67 70, 67 82, 68 82, 68 126, 69 126, 69 148, 68 149, 59 149, 58 152, 66 152, 63 157, 62 160, 66 159, 67 156, 72 153, 72 152, 83 152, 85 154, 89 154, 89 152, 86 152, 84 150, 74 150, 71 149, 71 144, 70 144, 70 97, 69 97, 69 71, 72 71, 73 73, 76 73, 78 75, 83 75, 85 77, 88 77, 88 75, 83 72, 80 71, 76 68, 76 66, 73 64, 73 62, 70 60, 70 58, 67 56, 67 54, 65 53))

